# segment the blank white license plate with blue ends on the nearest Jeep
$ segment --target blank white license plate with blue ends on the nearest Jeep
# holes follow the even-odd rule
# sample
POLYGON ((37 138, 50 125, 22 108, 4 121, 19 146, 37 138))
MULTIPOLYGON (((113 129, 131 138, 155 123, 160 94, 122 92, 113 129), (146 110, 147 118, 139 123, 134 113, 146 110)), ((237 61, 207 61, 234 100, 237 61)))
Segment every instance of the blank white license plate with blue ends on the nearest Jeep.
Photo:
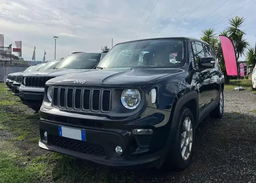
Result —
POLYGON ((86 141, 85 130, 59 126, 59 136, 86 141))

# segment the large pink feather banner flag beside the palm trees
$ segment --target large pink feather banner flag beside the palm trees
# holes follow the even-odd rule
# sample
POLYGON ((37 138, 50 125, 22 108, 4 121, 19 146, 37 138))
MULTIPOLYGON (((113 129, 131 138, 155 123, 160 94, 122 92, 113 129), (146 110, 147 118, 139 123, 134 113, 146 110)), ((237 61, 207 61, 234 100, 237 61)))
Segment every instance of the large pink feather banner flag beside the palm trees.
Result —
POLYGON ((227 36, 220 35, 220 44, 228 76, 237 76, 236 52, 232 41, 227 36))

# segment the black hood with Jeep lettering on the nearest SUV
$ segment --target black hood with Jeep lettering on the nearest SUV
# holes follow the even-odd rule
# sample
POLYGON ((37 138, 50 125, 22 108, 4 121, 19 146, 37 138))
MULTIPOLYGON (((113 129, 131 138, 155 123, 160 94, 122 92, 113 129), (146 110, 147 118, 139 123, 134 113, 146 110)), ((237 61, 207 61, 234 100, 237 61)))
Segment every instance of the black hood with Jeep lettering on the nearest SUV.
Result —
POLYGON ((181 72, 180 69, 145 69, 145 68, 115 68, 115 69, 95 69, 83 73, 68 74, 53 78, 46 84, 63 86, 97 86, 97 87, 142 87, 147 82, 154 79, 181 72), (82 80, 83 84, 74 83, 82 80), (85 82, 84 82, 85 81, 85 82))

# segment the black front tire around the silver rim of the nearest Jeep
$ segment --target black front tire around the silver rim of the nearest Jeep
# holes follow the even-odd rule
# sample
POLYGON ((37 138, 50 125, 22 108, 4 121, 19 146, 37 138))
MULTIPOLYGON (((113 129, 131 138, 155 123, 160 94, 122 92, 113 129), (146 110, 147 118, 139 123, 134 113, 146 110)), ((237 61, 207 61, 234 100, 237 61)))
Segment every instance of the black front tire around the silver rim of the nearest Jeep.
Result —
POLYGON ((186 107, 182 107, 179 113, 179 119, 178 119, 178 128, 173 140, 173 144, 171 146, 171 149, 169 151, 169 154, 166 158, 166 165, 171 168, 174 171, 181 171, 185 170, 189 167, 191 164, 191 157, 193 155, 193 149, 194 149, 194 142, 195 142, 195 123, 194 123, 194 116, 193 113, 186 107), (181 134, 183 129, 183 123, 185 119, 189 118, 191 120, 192 125, 192 144, 191 144, 191 150, 190 154, 187 158, 187 160, 183 159, 181 152, 181 134))

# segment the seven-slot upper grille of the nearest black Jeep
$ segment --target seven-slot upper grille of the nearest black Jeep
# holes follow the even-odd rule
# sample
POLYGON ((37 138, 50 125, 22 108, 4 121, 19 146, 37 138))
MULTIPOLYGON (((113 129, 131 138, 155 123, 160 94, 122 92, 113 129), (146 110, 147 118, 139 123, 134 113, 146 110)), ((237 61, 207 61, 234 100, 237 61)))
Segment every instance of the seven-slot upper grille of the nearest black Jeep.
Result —
POLYGON ((107 113, 110 111, 111 90, 54 87, 52 105, 69 110, 101 111, 107 113))

